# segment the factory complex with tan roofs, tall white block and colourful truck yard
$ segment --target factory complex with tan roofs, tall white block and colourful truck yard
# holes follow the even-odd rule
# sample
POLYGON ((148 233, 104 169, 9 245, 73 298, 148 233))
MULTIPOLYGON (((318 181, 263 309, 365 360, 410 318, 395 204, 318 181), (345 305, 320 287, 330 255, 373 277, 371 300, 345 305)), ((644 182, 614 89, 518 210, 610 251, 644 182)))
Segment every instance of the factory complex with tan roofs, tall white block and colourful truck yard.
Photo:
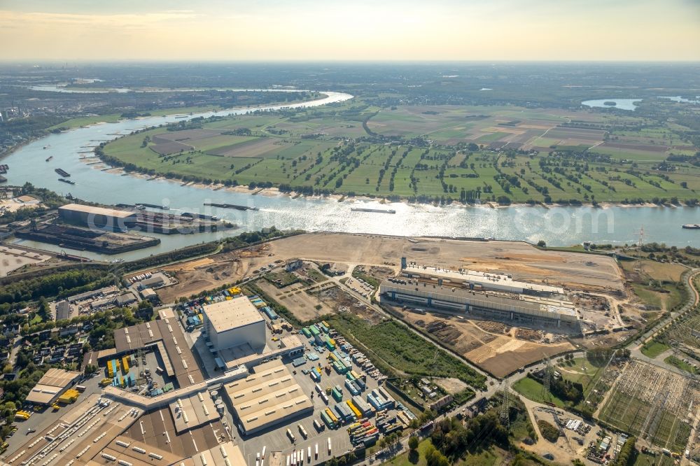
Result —
MULTIPOLYGON (((115 348, 85 355, 106 377, 81 381, 87 391, 76 393, 71 409, 38 427, 0 464, 252 466, 258 458, 262 465, 266 448, 265 464, 283 465, 285 456, 290 464, 317 464, 410 423, 412 414, 379 388, 384 376, 327 323, 310 326, 318 338, 279 321, 275 327, 284 330, 273 333, 279 316, 258 309, 262 299, 228 298, 202 306, 202 328, 209 324, 210 332, 183 332, 170 308, 159 309, 157 320, 116 330, 115 348), (224 348, 217 351, 213 341, 224 348), (323 351, 329 352, 325 369, 323 351), (214 359, 225 363, 207 376, 214 359), (357 422, 350 434, 340 428, 377 411, 387 413, 376 423, 357 422), (307 460, 300 459, 302 450, 307 460)), ((73 375, 69 383, 81 376, 73 375)), ((35 396, 45 400, 36 404, 60 395, 37 388, 35 396)))

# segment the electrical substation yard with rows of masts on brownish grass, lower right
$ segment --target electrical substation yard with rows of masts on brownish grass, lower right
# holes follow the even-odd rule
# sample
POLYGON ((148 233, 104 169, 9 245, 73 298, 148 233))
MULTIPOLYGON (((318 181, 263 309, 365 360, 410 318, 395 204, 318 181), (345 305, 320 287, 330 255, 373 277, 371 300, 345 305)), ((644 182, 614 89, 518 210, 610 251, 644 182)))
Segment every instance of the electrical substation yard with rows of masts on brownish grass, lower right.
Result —
POLYGON ((700 419, 698 382, 650 362, 633 359, 608 392, 598 418, 642 444, 680 457, 691 454, 691 432, 700 419))

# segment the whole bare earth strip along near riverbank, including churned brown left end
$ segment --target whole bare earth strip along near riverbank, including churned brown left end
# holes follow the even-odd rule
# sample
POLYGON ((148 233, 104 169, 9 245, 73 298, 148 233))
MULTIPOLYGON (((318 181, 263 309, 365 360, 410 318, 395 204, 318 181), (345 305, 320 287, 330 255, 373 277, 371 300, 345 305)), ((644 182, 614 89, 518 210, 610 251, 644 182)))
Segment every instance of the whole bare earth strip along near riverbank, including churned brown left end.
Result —
POLYGON ((398 270, 402 255, 419 263, 503 271, 515 278, 534 282, 547 279, 549 283, 571 288, 623 289, 615 262, 610 257, 599 255, 539 250, 515 241, 411 240, 400 236, 309 233, 271 241, 242 252, 222 253, 165 267, 176 273, 180 283, 162 288, 158 295, 162 302, 172 302, 179 296, 233 283, 275 260, 299 257, 346 264, 391 264, 398 270))

